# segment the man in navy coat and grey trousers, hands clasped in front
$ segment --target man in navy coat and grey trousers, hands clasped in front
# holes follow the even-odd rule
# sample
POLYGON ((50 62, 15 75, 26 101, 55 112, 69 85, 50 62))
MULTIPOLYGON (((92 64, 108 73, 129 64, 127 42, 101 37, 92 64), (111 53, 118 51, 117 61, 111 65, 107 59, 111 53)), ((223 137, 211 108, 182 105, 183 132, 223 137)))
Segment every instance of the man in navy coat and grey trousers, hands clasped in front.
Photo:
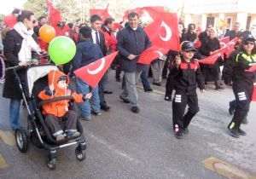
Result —
POLYGON ((139 15, 131 12, 128 14, 128 26, 117 34, 120 68, 125 73, 125 88, 119 97, 125 103, 131 104, 133 113, 140 112, 136 83, 145 67, 143 64, 137 64, 137 59, 152 45, 148 35, 138 23, 139 15))

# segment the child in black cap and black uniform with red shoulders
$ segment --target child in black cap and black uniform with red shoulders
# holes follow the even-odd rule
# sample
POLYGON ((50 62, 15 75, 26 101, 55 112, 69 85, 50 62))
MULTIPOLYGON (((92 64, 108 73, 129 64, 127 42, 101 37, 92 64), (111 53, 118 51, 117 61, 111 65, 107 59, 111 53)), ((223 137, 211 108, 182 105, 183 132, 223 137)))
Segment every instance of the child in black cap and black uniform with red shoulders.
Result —
POLYGON ((181 139, 188 134, 188 126, 195 113, 199 112, 196 95, 196 83, 202 93, 205 90, 204 79, 197 61, 193 59, 196 49, 194 43, 185 41, 181 44, 182 56, 176 56, 176 64, 172 66, 171 73, 175 79, 175 96, 172 101, 172 123, 175 136, 181 139), (188 113, 184 115, 186 106, 188 113))

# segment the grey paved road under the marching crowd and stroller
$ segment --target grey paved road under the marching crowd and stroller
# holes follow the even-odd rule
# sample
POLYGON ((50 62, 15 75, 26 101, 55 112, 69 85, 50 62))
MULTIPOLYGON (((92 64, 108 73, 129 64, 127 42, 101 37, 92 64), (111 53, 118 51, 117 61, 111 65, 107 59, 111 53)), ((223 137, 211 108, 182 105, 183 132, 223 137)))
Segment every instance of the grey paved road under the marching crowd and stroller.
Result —
MULTIPOLYGON (((256 176, 255 102, 248 114, 249 124, 242 127, 247 136, 234 139, 225 132, 231 118, 227 104, 234 98, 232 90, 215 91, 209 84, 206 94, 198 94, 201 111, 189 126, 189 135, 177 140, 172 132, 172 102, 163 100, 163 86, 152 87, 153 93, 139 87, 141 113, 131 113, 119 100, 120 83, 113 81, 111 72, 108 89, 113 95, 106 95, 110 112, 82 122, 87 159, 79 162, 75 147, 62 148, 57 153, 55 171, 45 165, 46 151, 30 145, 27 153, 20 153, 15 147, 9 128, 9 101, 0 97, 0 178, 219 179, 225 178, 218 174, 222 170, 236 178, 256 176), (211 157, 237 169, 222 165, 221 169, 208 170, 202 161, 211 157)), ((1 84, 0 95, 2 89, 1 84)), ((21 113, 26 124, 26 110, 21 113)))

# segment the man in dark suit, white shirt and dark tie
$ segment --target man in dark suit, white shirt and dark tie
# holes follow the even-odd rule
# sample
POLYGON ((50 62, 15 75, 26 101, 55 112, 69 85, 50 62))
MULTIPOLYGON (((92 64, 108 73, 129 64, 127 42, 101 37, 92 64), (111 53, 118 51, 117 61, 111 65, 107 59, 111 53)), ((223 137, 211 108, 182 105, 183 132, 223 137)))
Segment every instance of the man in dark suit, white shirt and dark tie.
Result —
MULTIPOLYGON (((101 47, 103 56, 106 56, 108 49, 106 47, 104 34, 102 32, 99 32, 101 26, 102 26, 102 18, 97 14, 91 15, 90 17, 91 40, 93 41, 93 43, 96 43, 101 47)), ((110 109, 110 107, 108 107, 107 105, 107 102, 104 96, 104 84, 107 81, 107 75, 108 74, 106 72, 99 83, 101 109, 104 111, 108 111, 110 109)), ((111 92, 112 91, 108 91, 108 90, 105 91, 105 93, 111 93, 111 92)))

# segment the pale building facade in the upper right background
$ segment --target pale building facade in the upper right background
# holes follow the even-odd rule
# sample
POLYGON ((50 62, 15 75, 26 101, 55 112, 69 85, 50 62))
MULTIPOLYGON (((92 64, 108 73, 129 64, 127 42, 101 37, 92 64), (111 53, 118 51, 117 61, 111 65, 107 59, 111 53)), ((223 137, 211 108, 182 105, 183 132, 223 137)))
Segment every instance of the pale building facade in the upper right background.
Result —
POLYGON ((183 7, 185 26, 195 23, 204 30, 222 21, 227 23, 225 29, 232 29, 237 21, 243 30, 256 28, 256 0, 183 0, 183 7))

